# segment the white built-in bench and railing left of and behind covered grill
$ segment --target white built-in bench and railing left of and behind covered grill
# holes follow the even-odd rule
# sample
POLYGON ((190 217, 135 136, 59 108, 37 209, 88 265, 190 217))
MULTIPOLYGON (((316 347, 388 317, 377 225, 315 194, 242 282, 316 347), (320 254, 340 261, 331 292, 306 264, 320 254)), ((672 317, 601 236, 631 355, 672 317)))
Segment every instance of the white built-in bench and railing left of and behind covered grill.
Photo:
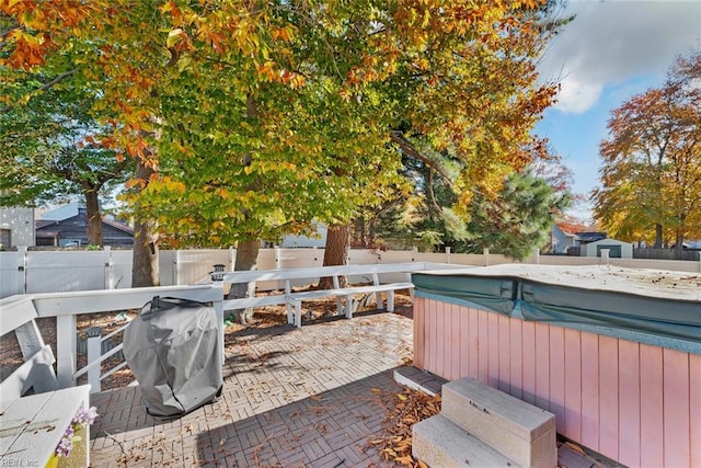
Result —
MULTIPOLYGON (((0 335, 15 334, 23 359, 0 383, 0 467, 46 466, 77 411, 89 408, 91 386, 76 386, 76 377, 81 374, 74 368, 77 315, 139 308, 153 296, 211 301, 223 322, 222 290, 212 285, 44 293, 0 299, 0 335), (43 317, 56 318, 58 359, 36 324, 43 317), (27 395, 31 389, 35 395, 27 395)), ((223 327, 219 333, 223 364, 223 327)), ((100 362, 89 365, 99 368, 100 362)), ((69 464, 89 466, 89 427, 78 435, 82 441, 73 447, 69 464)))

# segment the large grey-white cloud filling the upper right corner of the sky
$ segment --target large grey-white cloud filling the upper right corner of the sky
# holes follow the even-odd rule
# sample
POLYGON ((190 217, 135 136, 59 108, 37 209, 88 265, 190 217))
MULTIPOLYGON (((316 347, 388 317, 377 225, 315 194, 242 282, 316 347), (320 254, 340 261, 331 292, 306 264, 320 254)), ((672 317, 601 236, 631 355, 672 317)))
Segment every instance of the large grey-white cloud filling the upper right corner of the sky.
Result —
POLYGON ((606 85, 662 77, 675 56, 701 47, 701 1, 572 1, 570 14, 539 67, 543 79, 561 79, 562 112, 586 112, 606 85))

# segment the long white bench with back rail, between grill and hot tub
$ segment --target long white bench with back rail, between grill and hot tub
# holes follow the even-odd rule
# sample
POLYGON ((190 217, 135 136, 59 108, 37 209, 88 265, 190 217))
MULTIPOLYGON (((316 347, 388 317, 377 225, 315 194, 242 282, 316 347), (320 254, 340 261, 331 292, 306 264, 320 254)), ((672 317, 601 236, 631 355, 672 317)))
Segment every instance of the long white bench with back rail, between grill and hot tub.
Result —
POLYGON ((335 297, 336 313, 345 315, 346 318, 353 317, 353 296, 357 294, 376 294, 378 308, 384 309, 387 305, 387 310, 393 311, 394 292, 400 289, 412 290, 414 288, 414 285, 410 281, 411 273, 432 270, 435 267, 437 267, 437 264, 435 263, 413 262, 226 272, 221 274, 223 278, 222 282, 225 284, 248 283, 255 285, 256 282, 278 281, 284 283, 284 292, 281 294, 273 294, 269 296, 252 295, 250 297, 228 299, 223 301, 223 308, 225 310, 238 310, 253 307, 285 305, 287 307, 288 323, 298 328, 301 327, 302 301, 321 297, 335 297), (406 281, 392 283, 380 282, 380 275, 398 273, 404 274, 406 276, 406 281), (371 284, 342 288, 340 279, 342 276, 361 276, 367 278, 371 284), (307 281, 308 284, 313 284, 321 277, 331 277, 333 281, 333 288, 292 292, 291 282, 303 279, 307 281), (387 296, 387 303, 382 299, 382 293, 387 296))

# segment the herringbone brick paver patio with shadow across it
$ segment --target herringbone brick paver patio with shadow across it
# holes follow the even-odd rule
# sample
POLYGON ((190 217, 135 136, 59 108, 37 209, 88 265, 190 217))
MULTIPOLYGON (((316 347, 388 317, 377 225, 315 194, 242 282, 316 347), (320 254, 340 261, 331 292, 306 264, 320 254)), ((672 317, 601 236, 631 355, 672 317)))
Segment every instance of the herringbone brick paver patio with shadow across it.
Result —
POLYGON ((138 386, 94 395, 92 466, 386 466, 368 441, 411 356, 394 313, 245 329, 227 338, 221 399, 179 420, 150 418, 138 386))

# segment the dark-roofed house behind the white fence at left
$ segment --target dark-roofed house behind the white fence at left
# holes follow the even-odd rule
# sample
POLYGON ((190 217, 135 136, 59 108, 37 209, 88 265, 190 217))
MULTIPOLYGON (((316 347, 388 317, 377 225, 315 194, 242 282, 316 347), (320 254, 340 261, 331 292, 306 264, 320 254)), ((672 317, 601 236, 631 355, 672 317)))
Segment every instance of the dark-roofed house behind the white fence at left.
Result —
MULTIPOLYGON (((102 218, 102 237, 103 246, 134 246, 134 229, 110 217, 102 218)), ((85 208, 71 204, 44 214, 36 221, 36 246, 88 246, 85 208)))

